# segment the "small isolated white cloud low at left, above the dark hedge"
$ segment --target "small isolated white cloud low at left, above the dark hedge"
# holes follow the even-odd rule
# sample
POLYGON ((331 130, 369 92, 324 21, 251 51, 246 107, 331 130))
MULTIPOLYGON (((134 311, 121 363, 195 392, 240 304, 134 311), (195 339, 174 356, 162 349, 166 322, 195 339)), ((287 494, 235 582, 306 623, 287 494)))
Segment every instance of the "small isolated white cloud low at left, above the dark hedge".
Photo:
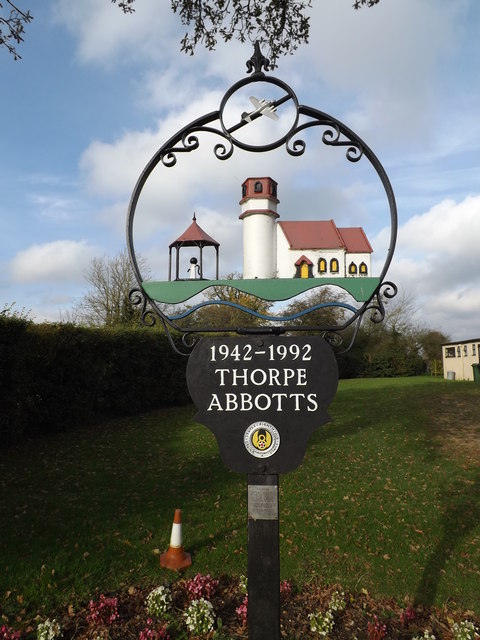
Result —
POLYGON ((86 241, 56 240, 19 251, 10 263, 17 283, 81 281, 98 249, 86 241))

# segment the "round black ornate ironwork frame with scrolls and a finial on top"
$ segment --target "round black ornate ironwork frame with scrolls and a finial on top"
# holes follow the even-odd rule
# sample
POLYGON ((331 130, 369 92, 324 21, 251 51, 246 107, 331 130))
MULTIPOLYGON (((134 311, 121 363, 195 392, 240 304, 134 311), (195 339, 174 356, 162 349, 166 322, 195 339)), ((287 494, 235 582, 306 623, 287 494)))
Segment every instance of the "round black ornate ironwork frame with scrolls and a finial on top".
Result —
MULTIPOLYGON (((397 293, 396 285, 390 281, 385 280, 385 276, 390 267, 395 250, 398 226, 395 196, 385 169, 383 168, 376 155, 370 149, 370 147, 354 131, 343 124, 340 120, 337 120, 336 118, 324 113, 323 111, 299 104, 298 99, 291 87, 289 87, 285 82, 279 80, 278 78, 265 75, 265 72, 262 69, 267 71, 268 68, 269 61, 261 54, 260 48, 257 43, 255 45, 254 55, 249 61, 247 61, 247 73, 251 73, 252 75, 236 82, 230 87, 230 89, 225 93, 218 110, 212 111, 203 116, 200 116, 196 120, 193 120, 183 129, 180 129, 177 133, 175 133, 167 142, 165 142, 165 144, 163 144, 158 149, 158 151, 153 155, 149 163, 140 174, 140 177, 137 180, 130 199, 127 214, 127 248, 133 272, 138 283, 138 287, 134 287, 130 291, 130 302, 133 305, 139 306, 141 308, 142 322, 145 325, 153 326, 156 323, 157 319, 161 321, 165 332, 170 339, 172 347, 175 349, 175 351, 181 353, 182 355, 189 354, 196 343, 196 334, 205 333, 219 334, 225 332, 236 332, 238 334, 281 334, 285 332, 302 331, 319 332, 323 334, 324 337, 333 346, 339 346, 342 344, 341 333, 346 328, 354 324, 354 330, 352 332, 349 345, 346 349, 344 349, 346 351, 352 346, 365 313, 367 311, 371 311, 372 313, 370 319, 373 322, 382 322, 385 317, 385 306, 383 298, 393 298, 397 293), (272 85, 275 85, 276 87, 279 87, 284 91, 284 95, 281 98, 271 102, 272 107, 277 108, 281 104, 284 104, 288 101, 292 101, 295 105, 295 117, 293 119, 293 125, 291 126, 290 130, 279 139, 264 145, 249 144, 235 137, 234 134, 246 124, 248 124, 248 121, 246 121, 243 116, 237 124, 231 127, 227 127, 224 123, 224 110, 228 100, 243 87, 256 82, 271 83, 272 85), (300 116, 303 116, 307 120, 299 124, 300 116), (217 126, 212 126, 212 123, 214 123, 215 121, 218 121, 219 124, 217 126), (306 131, 307 129, 312 127, 323 127, 324 130, 322 133, 322 142, 324 145, 332 147, 346 147, 345 156, 349 162, 358 162, 362 157, 367 158, 367 160, 370 162, 370 165, 375 170, 378 178, 380 179, 380 182, 386 194, 390 211, 390 243, 385 263, 378 278, 378 285, 376 286, 375 290, 370 295, 368 300, 363 302, 363 304, 361 304, 359 308, 355 308, 353 305, 340 302, 323 303, 310 307, 309 309, 306 309, 300 313, 281 318, 277 316, 261 315, 256 313, 252 309, 248 309, 236 303, 224 300, 202 302, 193 307, 193 309, 190 309, 183 314, 174 316, 166 315, 157 301, 147 295, 142 286, 144 283, 144 279, 142 278, 142 275, 140 273, 139 263, 136 257, 133 242, 133 225, 137 204, 142 189, 145 186, 148 178, 152 174, 153 170, 160 163, 166 168, 172 168, 177 163, 178 154, 191 153, 198 149, 200 146, 200 142, 198 139, 198 135, 196 134, 200 132, 210 133, 221 138, 221 141, 217 142, 214 145, 213 153, 218 160, 222 161, 228 160, 234 153, 235 148, 254 153, 265 153, 267 151, 272 151, 274 149, 285 146, 285 150, 289 155, 294 157, 301 156, 305 152, 307 145, 304 140, 298 137, 298 135, 302 131, 306 131), (196 311, 197 309, 207 304, 234 306, 249 315, 259 317, 271 324, 269 326, 255 327, 184 327, 178 324, 178 320, 187 317, 193 311, 196 311), (347 318, 345 322, 343 322, 343 324, 335 326, 302 326, 295 323, 292 324, 294 320, 301 318, 303 315, 316 311, 319 308, 329 306, 342 307, 350 311, 352 315, 347 318), (181 342, 183 344, 182 350, 180 350, 180 348, 175 343, 174 337, 172 336, 172 331, 178 332, 178 335, 181 336, 181 342)), ((250 121, 255 120, 261 116, 261 111, 259 111, 258 113, 254 112, 253 114, 251 114, 250 121)), ((235 287, 235 282, 235 280, 231 281, 232 287, 235 287)), ((211 281, 211 283, 212 286, 214 286, 218 283, 218 281, 211 281)), ((322 283, 321 278, 319 278, 317 286, 322 286, 324 284, 325 283, 322 283)))

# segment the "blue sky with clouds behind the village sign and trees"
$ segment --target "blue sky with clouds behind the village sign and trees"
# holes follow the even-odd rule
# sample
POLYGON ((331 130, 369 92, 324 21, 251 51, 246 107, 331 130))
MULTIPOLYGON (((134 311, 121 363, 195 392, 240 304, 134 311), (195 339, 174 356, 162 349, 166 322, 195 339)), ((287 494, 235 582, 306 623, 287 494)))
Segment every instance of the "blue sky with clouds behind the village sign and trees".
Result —
MULTIPOLYGON (((181 127, 218 109, 252 48, 180 53, 184 28, 159 0, 137 0, 127 16, 109 0, 24 4, 35 18, 23 59, 0 52, 0 302, 55 321, 85 292, 92 258, 126 246, 143 167, 181 127)), ((310 44, 273 75, 302 104, 347 124, 385 167, 399 212, 388 278, 412 300, 415 322, 479 337, 480 4, 313 4, 310 44)), ((221 273, 241 271, 240 185, 266 174, 279 183, 284 219, 363 226, 381 268, 389 220, 368 171, 255 155, 219 169, 202 151, 146 192, 136 239, 155 278, 167 278, 168 245, 194 211, 221 243, 221 273)))

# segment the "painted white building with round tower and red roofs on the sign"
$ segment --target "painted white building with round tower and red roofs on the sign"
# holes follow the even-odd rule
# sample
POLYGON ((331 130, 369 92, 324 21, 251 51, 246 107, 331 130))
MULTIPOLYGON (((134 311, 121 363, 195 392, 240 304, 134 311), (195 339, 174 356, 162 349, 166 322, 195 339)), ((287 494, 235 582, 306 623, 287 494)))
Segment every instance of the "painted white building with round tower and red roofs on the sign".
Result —
POLYGON ((362 227, 333 220, 280 221, 277 183, 247 178, 242 185, 243 277, 371 276, 373 249, 362 227))

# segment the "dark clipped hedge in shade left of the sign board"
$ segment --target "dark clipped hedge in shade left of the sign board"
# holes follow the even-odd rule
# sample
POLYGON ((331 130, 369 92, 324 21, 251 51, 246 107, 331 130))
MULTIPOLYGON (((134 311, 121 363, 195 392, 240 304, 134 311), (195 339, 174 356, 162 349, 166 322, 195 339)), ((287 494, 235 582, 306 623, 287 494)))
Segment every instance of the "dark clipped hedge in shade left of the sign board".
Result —
POLYGON ((190 401, 165 335, 0 317, 0 443, 190 401))

